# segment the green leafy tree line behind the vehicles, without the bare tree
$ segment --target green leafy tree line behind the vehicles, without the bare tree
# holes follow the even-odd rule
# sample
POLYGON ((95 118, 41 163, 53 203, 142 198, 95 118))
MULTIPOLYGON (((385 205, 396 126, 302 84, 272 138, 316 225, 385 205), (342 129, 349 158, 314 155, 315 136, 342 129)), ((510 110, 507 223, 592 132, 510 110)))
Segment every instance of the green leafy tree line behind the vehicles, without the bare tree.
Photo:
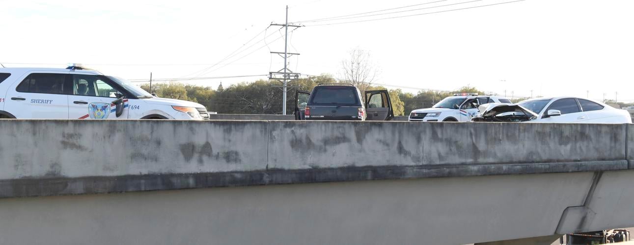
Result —
MULTIPOLYGON (((291 82, 290 85, 299 86, 299 88, 290 89, 288 92, 287 112, 292 113, 294 111, 295 91, 298 89, 301 91, 312 91, 313 87, 324 83, 339 83, 339 80, 333 79, 330 75, 321 75, 320 77, 309 77, 291 82)), ((232 84, 226 88, 220 85, 216 89, 200 85, 168 82, 153 84, 152 92, 159 97, 200 103, 208 111, 216 111, 217 113, 281 114, 282 91, 280 87, 274 87, 274 85, 280 85, 280 82, 275 80, 257 80, 255 82, 232 84)), ((141 88, 145 89, 145 91, 150 91, 149 84, 143 84, 141 88)), ((367 84, 360 89, 370 91, 385 88, 367 84)), ((363 94, 363 91, 361 91, 361 94, 363 94)), ((401 89, 388 89, 388 91, 392 101, 392 110, 394 110, 394 115, 397 116, 406 115, 406 113, 410 113, 410 111, 415 109, 429 108, 453 93, 476 92, 484 94, 484 92, 470 86, 460 87, 456 91, 451 92, 420 91, 417 94, 413 94, 411 92, 403 92, 401 89)))

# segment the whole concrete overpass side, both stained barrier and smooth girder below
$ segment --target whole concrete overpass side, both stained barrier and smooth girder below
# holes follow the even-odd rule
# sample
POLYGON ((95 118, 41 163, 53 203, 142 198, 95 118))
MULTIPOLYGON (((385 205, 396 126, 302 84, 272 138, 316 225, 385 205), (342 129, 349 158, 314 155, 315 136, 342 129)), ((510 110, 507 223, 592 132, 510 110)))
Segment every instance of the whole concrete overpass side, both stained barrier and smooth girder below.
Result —
POLYGON ((465 244, 631 227, 631 127, 1 120, 0 243, 465 244))

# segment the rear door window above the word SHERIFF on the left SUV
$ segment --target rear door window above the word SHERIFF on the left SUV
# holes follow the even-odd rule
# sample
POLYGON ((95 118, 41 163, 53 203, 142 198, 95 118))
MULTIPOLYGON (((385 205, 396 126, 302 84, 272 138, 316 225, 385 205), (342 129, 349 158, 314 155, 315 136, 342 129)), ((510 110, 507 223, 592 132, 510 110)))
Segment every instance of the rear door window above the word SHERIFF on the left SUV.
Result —
POLYGON ((18 92, 34 92, 41 94, 66 94, 64 82, 66 74, 31 73, 15 88, 18 92))

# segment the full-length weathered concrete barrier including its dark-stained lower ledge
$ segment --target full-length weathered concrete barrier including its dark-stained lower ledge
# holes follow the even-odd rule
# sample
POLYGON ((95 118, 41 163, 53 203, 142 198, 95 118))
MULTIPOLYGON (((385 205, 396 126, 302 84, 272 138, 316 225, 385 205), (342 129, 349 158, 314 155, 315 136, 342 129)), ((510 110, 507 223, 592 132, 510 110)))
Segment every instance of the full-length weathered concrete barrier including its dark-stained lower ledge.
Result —
POLYGON ((0 197, 628 168, 626 125, 2 120, 0 137, 0 197))

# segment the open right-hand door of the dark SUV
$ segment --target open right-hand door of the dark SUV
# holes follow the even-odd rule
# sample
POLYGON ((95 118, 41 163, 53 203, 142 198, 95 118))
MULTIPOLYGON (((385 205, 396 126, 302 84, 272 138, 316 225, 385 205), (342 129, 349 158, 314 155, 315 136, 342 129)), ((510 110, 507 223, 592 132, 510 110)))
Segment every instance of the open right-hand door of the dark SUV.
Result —
POLYGON ((365 91, 365 111, 368 121, 389 121, 394 118, 392 101, 387 90, 365 91))

